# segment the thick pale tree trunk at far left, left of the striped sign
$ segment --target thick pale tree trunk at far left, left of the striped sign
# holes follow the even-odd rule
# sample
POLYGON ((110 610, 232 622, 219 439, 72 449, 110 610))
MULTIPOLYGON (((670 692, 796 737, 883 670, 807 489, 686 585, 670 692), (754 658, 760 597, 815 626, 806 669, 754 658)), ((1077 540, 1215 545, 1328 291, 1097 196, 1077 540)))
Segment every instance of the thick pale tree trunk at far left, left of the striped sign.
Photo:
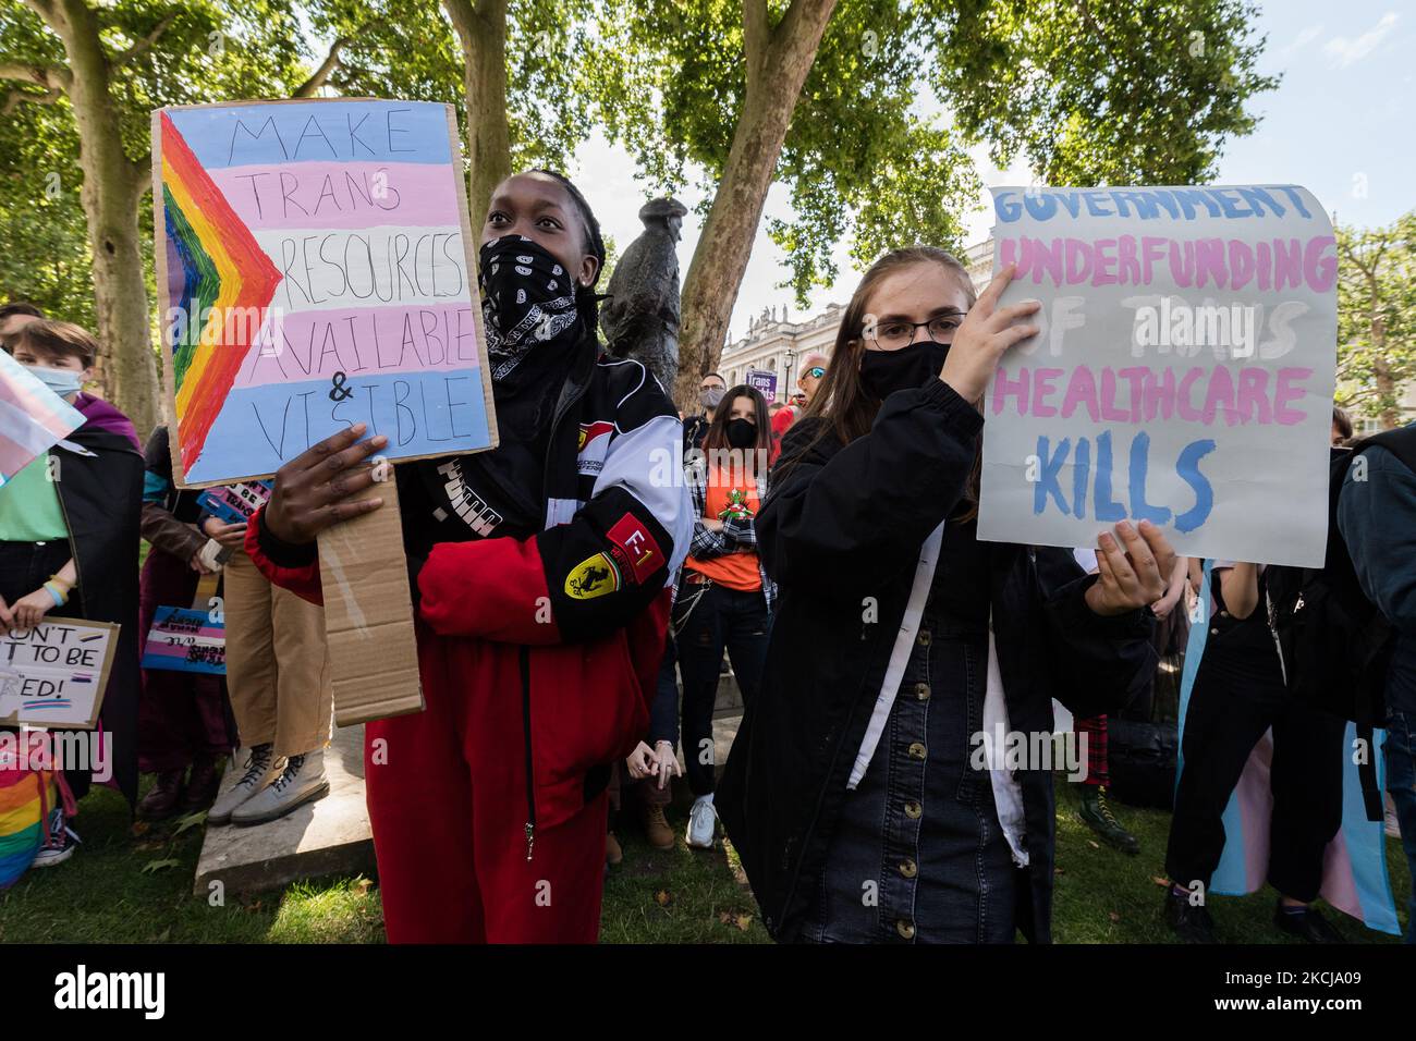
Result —
POLYGON ((62 0, 50 24, 64 42, 72 76, 67 93, 78 123, 81 200, 93 249, 101 385, 146 436, 160 415, 137 231, 147 164, 127 157, 116 132, 119 112, 109 95, 108 55, 93 11, 82 0, 62 0))

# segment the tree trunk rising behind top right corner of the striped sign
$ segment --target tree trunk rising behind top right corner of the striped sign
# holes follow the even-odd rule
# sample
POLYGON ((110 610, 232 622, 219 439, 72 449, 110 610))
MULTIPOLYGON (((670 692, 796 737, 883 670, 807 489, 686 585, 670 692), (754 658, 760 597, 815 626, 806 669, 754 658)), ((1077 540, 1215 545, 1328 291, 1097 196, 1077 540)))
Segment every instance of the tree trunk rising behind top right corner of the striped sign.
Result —
POLYGON ((483 224, 491 190, 511 173, 507 125, 507 0, 443 0, 462 44, 467 95, 467 207, 483 224))

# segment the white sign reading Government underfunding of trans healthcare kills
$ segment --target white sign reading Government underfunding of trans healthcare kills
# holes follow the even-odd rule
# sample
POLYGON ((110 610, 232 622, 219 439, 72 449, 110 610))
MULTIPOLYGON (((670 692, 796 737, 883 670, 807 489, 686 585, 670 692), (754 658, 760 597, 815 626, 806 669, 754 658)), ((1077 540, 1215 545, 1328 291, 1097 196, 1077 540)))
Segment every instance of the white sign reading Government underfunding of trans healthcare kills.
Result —
POLYGON ((994 188, 1003 305, 1042 302, 983 399, 978 537, 1321 567, 1337 249, 1294 186, 994 188))

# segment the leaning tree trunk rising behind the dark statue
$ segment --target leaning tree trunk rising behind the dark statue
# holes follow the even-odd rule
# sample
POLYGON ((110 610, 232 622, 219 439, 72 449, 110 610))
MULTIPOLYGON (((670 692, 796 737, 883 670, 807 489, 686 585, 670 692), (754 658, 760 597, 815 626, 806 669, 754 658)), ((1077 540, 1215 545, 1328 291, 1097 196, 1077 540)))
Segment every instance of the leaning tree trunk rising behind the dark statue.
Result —
POLYGON ((763 0, 743 3, 748 92, 684 280, 674 398, 685 411, 697 411, 698 384, 722 354, 782 142, 834 8, 835 0, 793 0, 773 30, 766 24, 763 0))

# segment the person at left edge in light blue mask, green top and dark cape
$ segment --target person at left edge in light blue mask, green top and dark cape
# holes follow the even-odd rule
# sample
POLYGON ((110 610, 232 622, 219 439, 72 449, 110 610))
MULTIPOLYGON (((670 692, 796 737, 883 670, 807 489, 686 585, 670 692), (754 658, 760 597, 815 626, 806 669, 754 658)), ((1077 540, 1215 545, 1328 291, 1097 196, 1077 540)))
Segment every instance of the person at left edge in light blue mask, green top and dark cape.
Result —
MULTIPOLYGON (((85 423, 0 486, 0 625, 31 629, 47 618, 122 626, 99 725, 113 782, 137 802, 137 517, 143 456, 127 416, 82 391, 98 341, 68 322, 37 319, 13 337, 14 360, 74 405, 85 423)), ((81 799, 88 769, 67 769, 81 799)), ((37 864, 72 854, 55 807, 51 847, 37 864)))

